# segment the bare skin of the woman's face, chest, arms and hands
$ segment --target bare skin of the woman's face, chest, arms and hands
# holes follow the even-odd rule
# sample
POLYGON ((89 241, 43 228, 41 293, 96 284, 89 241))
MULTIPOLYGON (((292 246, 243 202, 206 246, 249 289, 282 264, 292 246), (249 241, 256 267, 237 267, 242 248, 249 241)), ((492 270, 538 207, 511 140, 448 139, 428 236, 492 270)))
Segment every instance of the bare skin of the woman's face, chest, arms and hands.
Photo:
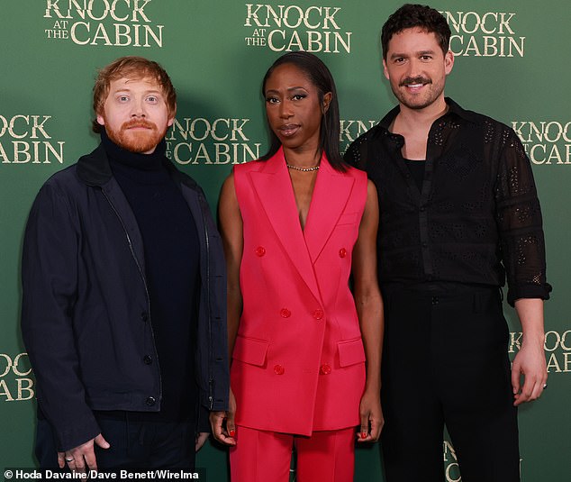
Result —
MULTIPOLYGON (((331 102, 331 93, 325 93, 320 101, 317 88, 304 72, 292 64, 283 64, 268 77, 265 94, 267 122, 282 142, 287 164, 300 168, 317 165, 322 157, 319 144, 320 123, 322 114, 331 102)), ((304 228, 317 171, 300 172, 290 169, 289 174, 299 221, 304 228)), ((228 271, 228 345, 231 355, 242 311, 240 262, 243 250, 243 223, 232 175, 222 186, 219 219, 228 271)), ((377 225, 376 188, 368 181, 367 203, 353 250, 352 265, 355 301, 367 356, 367 382, 359 407, 359 441, 378 440, 384 423, 380 405, 383 307, 376 281, 377 225)), ((211 414, 213 435, 226 445, 236 444, 235 413, 236 400, 230 392, 229 410, 211 414)))

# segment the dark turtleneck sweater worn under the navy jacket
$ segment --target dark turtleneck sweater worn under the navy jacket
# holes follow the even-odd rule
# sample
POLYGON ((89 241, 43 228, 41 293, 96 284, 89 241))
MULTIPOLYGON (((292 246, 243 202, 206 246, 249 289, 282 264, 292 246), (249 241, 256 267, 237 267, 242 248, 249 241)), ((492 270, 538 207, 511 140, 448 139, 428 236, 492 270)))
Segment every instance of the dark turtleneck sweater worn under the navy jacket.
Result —
MULTIPOLYGON (((145 251, 150 318, 159 356, 159 414, 144 418, 180 421, 195 417, 194 332, 200 290, 195 221, 164 163, 165 141, 152 154, 124 150, 101 135, 113 176, 139 225, 145 251)), ((142 363, 142 361, 141 361, 142 363)))

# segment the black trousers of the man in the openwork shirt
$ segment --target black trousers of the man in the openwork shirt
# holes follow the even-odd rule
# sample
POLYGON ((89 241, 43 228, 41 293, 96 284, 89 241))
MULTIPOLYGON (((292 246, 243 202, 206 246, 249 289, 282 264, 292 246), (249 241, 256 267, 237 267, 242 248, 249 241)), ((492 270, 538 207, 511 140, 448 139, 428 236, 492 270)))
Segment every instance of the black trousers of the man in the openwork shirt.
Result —
POLYGON ((384 286, 386 482, 442 482, 443 427, 463 482, 517 482, 508 328, 497 288, 384 286))

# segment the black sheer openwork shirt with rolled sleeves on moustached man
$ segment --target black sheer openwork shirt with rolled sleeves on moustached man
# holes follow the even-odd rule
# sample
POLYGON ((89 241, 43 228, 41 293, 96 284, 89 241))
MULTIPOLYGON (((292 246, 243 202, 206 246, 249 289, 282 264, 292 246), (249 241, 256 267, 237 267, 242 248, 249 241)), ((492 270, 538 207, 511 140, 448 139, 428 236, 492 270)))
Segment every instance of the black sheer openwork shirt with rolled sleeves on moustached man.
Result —
POLYGON ((541 210, 521 141, 503 123, 446 102, 429 132, 421 189, 403 136, 389 132, 398 106, 345 154, 376 185, 379 282, 503 286, 507 277, 511 305, 548 299, 541 210))

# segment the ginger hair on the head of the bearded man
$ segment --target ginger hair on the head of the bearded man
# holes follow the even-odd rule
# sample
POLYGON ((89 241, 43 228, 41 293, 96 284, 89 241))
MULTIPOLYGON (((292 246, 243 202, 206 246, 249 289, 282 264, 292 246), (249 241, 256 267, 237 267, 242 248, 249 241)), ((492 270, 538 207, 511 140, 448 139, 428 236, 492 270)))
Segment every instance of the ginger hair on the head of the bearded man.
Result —
MULTIPOLYGON (((112 80, 118 78, 144 78, 152 77, 157 80, 159 86, 162 87, 166 97, 168 114, 174 115, 177 111, 177 91, 168 77, 167 71, 157 62, 144 57, 120 57, 113 60, 109 65, 101 68, 97 72, 95 78, 95 86, 93 87, 93 109, 95 115, 103 113, 103 106, 107 95, 109 95, 109 87, 112 80)), ((92 124, 93 132, 101 132, 103 126, 97 123, 97 119, 92 124)))

